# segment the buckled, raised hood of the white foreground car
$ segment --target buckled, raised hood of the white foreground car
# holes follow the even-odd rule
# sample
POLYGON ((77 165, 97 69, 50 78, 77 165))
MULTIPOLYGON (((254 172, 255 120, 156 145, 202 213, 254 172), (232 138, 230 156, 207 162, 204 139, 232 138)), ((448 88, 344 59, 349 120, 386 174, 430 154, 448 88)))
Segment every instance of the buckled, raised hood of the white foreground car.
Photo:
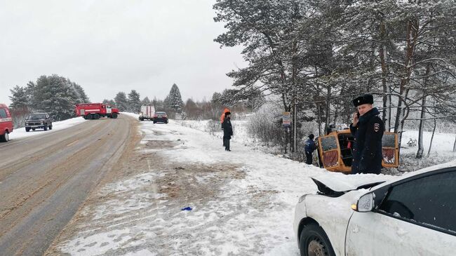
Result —
POLYGON ((386 175, 344 175, 341 173, 311 177, 318 187, 319 194, 341 196, 347 191, 369 189, 391 180, 386 175))

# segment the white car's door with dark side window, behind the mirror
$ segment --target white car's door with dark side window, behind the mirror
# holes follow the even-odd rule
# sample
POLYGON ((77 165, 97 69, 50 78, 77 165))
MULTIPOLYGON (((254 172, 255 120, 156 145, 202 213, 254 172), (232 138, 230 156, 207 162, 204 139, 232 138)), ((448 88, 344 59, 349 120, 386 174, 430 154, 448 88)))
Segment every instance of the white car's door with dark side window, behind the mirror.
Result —
POLYGON ((355 212, 349 221, 345 255, 455 255, 455 171, 409 178, 374 193, 378 208, 355 212))

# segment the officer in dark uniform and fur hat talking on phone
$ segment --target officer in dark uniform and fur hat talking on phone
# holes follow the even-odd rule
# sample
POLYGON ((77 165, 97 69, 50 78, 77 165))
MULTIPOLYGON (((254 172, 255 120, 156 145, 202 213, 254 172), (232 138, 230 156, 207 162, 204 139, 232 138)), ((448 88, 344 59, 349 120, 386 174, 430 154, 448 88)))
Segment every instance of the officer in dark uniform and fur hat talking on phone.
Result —
POLYGON ((350 125, 351 135, 354 136, 353 162, 351 173, 380 174, 382 169, 382 137, 384 123, 378 116, 380 112, 373 107, 373 95, 366 94, 353 100, 358 110, 353 115, 350 125))

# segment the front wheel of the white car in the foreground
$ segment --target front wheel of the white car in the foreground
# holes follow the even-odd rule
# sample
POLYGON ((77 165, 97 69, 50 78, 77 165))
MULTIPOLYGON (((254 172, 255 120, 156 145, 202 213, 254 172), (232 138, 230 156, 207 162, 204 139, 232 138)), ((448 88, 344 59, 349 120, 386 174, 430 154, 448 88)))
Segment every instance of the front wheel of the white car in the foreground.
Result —
POLYGON ((328 255, 335 256, 325 231, 318 224, 306 224, 300 234, 301 256, 328 255))

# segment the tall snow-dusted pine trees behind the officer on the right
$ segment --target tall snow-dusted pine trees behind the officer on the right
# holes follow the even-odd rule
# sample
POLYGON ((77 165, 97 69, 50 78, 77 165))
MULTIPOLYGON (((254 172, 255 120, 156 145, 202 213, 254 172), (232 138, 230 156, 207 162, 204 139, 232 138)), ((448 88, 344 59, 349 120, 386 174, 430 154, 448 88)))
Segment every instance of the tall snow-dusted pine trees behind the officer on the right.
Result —
POLYGON ((243 46, 248 63, 228 73, 231 97, 279 95, 292 113, 292 151, 300 113, 314 112, 321 135, 351 122, 361 93, 375 95, 400 137, 405 122, 419 122, 417 158, 425 122, 455 121, 454 0, 217 0, 213 8, 227 29, 215 41, 243 46))

